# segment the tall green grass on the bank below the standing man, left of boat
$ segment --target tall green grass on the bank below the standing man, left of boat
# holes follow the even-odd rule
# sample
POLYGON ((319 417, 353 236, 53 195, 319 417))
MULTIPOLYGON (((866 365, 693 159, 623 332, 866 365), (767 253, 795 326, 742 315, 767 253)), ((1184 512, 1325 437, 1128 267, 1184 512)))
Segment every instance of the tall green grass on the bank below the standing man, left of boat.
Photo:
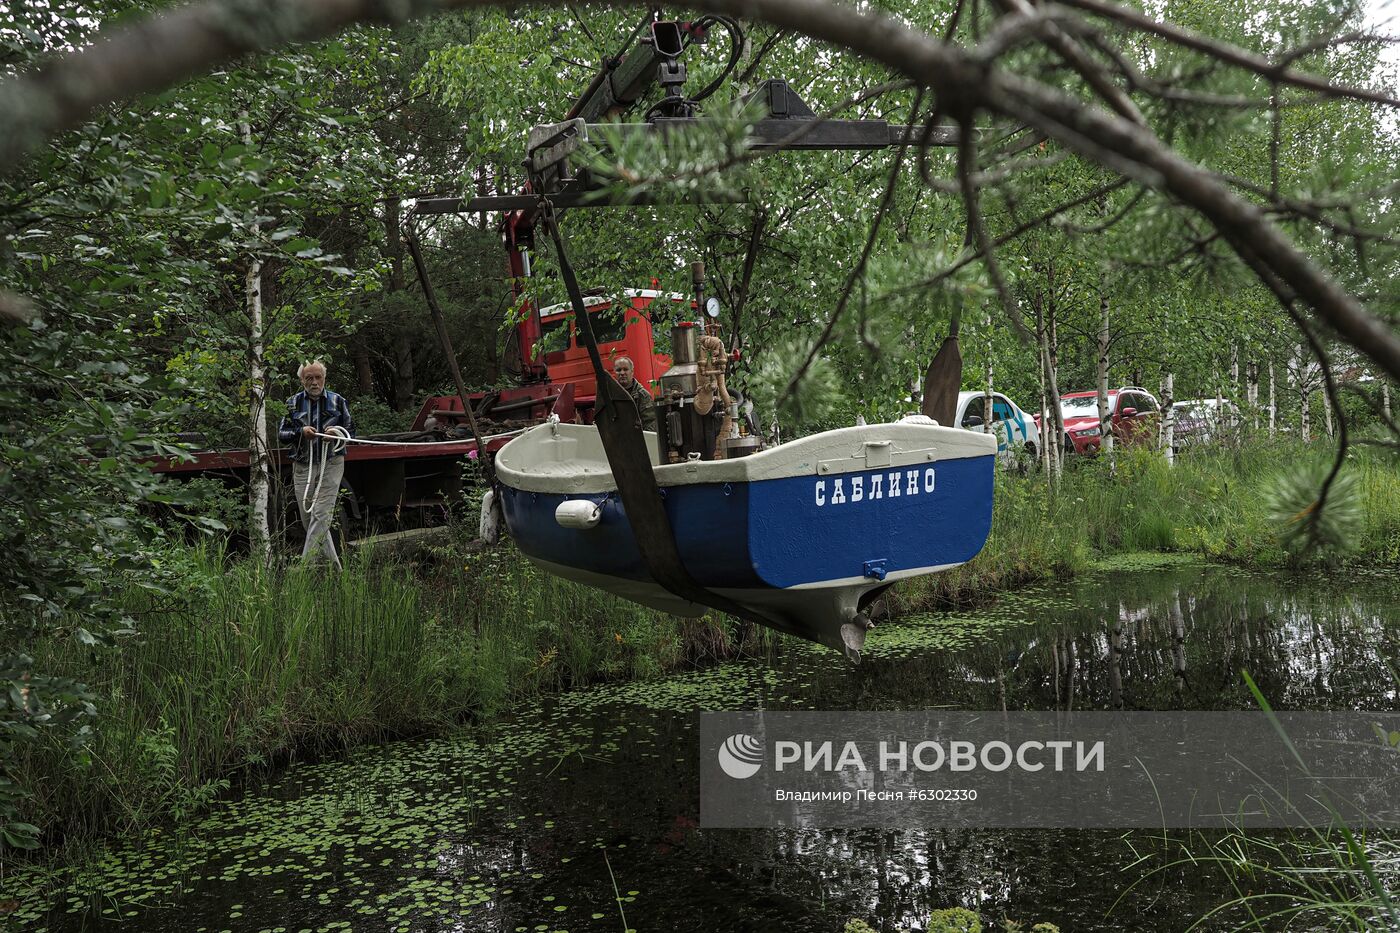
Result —
POLYGON ((181 817, 244 772, 393 735, 441 731, 546 691, 655 677, 735 651, 722 621, 654 612, 536 572, 512 548, 344 573, 266 570, 218 551, 183 560, 186 591, 130 594, 116 647, 35 646, 46 671, 105 699, 81 754, 22 749, 27 820, 52 843, 181 817))

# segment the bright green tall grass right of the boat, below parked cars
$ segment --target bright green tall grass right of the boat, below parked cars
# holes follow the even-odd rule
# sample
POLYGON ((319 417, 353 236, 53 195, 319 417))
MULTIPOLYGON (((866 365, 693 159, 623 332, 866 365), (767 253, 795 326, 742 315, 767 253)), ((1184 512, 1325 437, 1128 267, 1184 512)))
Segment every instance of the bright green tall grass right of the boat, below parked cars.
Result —
MULTIPOLYGON (((1151 450, 1071 458, 1054 486, 1043 474, 998 471, 991 535, 970 563, 910 581, 903 608, 966 602, 1011 586, 1068 577, 1124 552, 1176 551, 1256 567, 1299 560, 1284 548, 1268 492, 1299 464, 1333 450, 1292 441, 1189 451, 1175 465, 1151 450)), ((1400 468, 1387 454, 1354 450, 1358 513, 1345 552, 1331 563, 1400 569, 1400 468)), ((1336 504, 1336 503, 1334 503, 1336 504)), ((1109 560, 1112 566, 1112 560, 1109 560)))

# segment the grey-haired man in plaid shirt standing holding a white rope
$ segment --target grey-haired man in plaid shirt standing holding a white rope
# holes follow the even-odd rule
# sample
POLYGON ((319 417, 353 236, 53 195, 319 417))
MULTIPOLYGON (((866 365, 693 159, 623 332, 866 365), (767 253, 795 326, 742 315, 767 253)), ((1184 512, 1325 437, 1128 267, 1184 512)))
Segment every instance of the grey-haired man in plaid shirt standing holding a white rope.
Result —
POLYGON ((343 427, 354 437, 354 419, 346 401, 326 388, 325 363, 302 363, 297 377, 302 391, 287 399, 287 416, 277 429, 277 440, 291 445, 293 488, 297 490, 301 527, 307 530, 301 556, 312 560, 326 558, 339 570, 340 556, 330 539, 330 524, 346 466, 344 450, 342 444, 316 434, 343 427))

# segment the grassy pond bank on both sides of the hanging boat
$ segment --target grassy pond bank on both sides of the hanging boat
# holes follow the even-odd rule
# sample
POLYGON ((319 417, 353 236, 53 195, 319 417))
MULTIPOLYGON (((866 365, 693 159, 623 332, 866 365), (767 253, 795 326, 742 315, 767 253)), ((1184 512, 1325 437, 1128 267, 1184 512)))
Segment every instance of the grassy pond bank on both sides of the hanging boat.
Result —
MULTIPOLYGON (((1113 555, 1190 551, 1281 566, 1263 490, 1326 451, 1253 447, 1183 458, 1133 454, 1044 479, 998 476, 991 538, 958 570, 897 587, 893 609, 965 602, 1009 586, 1113 566, 1113 555)), ((1358 454, 1361 518, 1348 560, 1400 566, 1400 471, 1358 454)), ((73 637, 34 647, 38 667, 104 698, 74 754, 25 747, 14 776, 46 839, 139 831, 200 807, 239 775, 290 758, 490 717, 606 678, 658 677, 732 656, 736 626, 685 621, 531 567, 465 539, 413 563, 353 560, 330 577, 260 570, 217 551, 164 555, 183 591, 130 597, 140 635, 116 649, 73 637)), ((771 636, 759 633, 756 649, 771 636)), ((834 658, 834 656, 833 656, 834 658)))

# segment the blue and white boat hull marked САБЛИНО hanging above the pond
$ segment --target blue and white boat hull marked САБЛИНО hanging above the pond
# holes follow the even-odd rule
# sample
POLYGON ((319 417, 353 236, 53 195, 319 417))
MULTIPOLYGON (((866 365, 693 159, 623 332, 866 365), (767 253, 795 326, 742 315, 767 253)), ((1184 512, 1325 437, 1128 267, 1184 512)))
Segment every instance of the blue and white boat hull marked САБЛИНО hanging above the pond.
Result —
MULTIPOLYGON (((771 626, 847 653, 867 602, 970 560, 991 530, 994 437, 911 416, 736 459, 655 462, 682 560, 701 587, 771 626)), ((598 430, 540 424, 496 457, 505 524, 545 570, 697 616, 647 572, 598 430)))

